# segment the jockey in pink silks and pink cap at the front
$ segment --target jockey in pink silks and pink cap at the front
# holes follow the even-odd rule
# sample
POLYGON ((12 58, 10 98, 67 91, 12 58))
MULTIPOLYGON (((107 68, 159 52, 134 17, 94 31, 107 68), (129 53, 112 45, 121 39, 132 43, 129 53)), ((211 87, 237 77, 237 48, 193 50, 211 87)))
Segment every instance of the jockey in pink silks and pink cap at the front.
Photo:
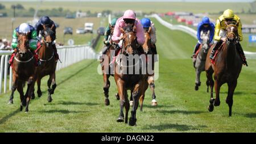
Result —
MULTIPOLYGON (((132 10, 126 10, 123 16, 119 19, 117 19, 117 23, 115 24, 112 40, 115 43, 119 43, 123 39, 123 36, 121 35, 120 27, 125 28, 127 26, 136 26, 136 36, 137 36, 137 41, 138 44, 140 45, 141 48, 139 50, 143 50, 142 45, 144 44, 145 37, 144 37, 144 31, 143 27, 141 25, 141 22, 139 21, 138 18, 136 18, 136 15, 134 11, 132 10)), ((116 49, 116 52, 119 51, 120 48, 116 49)), ((116 55, 116 54, 115 54, 116 55)))

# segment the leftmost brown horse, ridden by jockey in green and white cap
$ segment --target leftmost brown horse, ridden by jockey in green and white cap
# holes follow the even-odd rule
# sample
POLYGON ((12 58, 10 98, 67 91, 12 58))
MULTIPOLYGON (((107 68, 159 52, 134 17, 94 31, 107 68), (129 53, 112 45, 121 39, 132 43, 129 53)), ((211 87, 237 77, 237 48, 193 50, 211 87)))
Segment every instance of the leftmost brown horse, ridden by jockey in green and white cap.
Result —
POLYGON ((9 103, 13 103, 13 95, 14 91, 17 89, 20 96, 20 111, 22 111, 23 107, 25 108, 25 112, 28 112, 28 104, 31 99, 32 91, 34 88, 34 75, 35 75, 35 58, 34 54, 29 49, 29 40, 27 34, 19 34, 18 36, 18 50, 15 54, 12 71, 13 71, 13 87, 11 88, 11 96, 9 103), (23 87, 27 82, 27 91, 24 95, 23 87))

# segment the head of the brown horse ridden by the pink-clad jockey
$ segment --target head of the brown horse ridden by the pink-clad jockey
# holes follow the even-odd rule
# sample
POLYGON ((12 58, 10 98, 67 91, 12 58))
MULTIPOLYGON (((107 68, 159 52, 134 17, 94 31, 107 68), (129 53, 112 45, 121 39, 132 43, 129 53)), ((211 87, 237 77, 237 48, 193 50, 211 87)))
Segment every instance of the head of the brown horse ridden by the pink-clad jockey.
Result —
POLYGON ((120 30, 123 33, 122 46, 126 54, 134 54, 134 51, 137 48, 136 27, 120 28, 120 30))

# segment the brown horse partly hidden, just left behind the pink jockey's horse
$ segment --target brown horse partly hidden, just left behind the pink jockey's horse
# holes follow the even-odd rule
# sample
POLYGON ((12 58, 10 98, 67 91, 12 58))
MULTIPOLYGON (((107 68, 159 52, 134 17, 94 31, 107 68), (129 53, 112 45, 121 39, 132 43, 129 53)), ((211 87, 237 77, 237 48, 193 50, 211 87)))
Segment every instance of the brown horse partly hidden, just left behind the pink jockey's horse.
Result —
MULTIPOLYGON (((111 37, 114 32, 114 27, 112 27, 110 24, 109 24, 109 27, 110 27, 110 37, 111 37)), ((102 56, 104 61, 101 61, 101 63, 102 63, 101 70, 103 73, 102 75, 103 75, 103 81, 104 81, 103 90, 104 90, 104 96, 105 96, 105 105, 110 104, 110 101, 109 101, 109 87, 110 87, 109 77, 110 77, 110 75, 113 76, 113 74, 111 74, 113 72, 110 69, 109 63, 111 61, 111 58, 113 57, 112 55, 114 54, 114 50, 116 49, 117 44, 115 44, 112 40, 110 40, 110 44, 108 46, 109 46, 108 51, 106 52, 105 55, 102 56)), ((118 94, 115 94, 115 96, 116 96, 117 100, 119 100, 118 94)))

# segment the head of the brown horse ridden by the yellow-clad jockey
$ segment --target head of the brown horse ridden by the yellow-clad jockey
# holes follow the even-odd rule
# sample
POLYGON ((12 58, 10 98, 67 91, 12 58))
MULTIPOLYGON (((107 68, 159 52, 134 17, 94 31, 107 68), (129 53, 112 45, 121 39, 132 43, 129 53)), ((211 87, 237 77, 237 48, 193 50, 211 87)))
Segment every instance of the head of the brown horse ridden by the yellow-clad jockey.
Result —
POLYGON ((234 43, 238 39, 238 29, 237 26, 239 24, 239 20, 237 23, 228 24, 226 23, 226 40, 228 43, 234 43))

